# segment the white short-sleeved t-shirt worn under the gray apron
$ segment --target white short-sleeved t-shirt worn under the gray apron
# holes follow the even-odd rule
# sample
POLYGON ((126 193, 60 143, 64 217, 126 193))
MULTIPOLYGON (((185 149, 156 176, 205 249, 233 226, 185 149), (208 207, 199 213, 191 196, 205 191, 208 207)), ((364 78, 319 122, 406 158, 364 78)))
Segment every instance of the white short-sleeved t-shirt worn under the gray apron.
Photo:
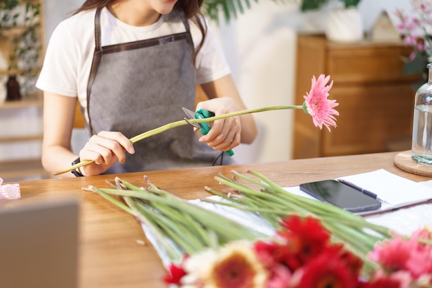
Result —
MULTIPOLYGON (((61 21, 50 38, 43 68, 36 83, 40 90, 63 96, 78 96, 87 106, 87 83, 95 50, 95 12, 88 10, 61 21)), ((161 15, 153 25, 137 27, 115 18, 107 8, 101 10, 101 45, 113 45, 184 32, 184 23, 167 22, 161 15)), ((201 32, 192 21, 190 33, 198 45, 201 32)), ((230 68, 215 34, 208 27, 206 39, 196 59, 198 83, 208 83, 230 73, 230 68)))

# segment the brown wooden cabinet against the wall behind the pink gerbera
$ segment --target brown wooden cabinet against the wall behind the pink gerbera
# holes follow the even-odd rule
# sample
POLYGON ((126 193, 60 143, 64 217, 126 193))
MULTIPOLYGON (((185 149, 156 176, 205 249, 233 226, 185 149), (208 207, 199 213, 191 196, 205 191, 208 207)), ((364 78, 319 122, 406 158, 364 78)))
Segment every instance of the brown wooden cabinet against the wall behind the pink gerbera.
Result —
POLYGON ((330 75, 328 98, 340 103, 340 116, 328 132, 296 110, 293 158, 386 152, 397 143, 409 149, 413 83, 421 79, 402 72, 401 56, 410 52, 402 43, 331 43, 323 35, 298 35, 295 103, 303 103, 313 75, 330 75))

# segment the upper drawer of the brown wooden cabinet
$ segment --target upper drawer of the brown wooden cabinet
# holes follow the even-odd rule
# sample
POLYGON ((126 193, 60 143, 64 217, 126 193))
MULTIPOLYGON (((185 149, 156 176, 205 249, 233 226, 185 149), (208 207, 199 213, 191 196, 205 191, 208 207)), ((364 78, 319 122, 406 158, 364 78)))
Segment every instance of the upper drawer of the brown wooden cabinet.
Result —
POLYGON ((326 73, 335 83, 377 83, 413 81, 418 75, 403 73, 401 56, 409 55, 403 46, 367 45, 355 47, 337 45, 328 49, 326 73))

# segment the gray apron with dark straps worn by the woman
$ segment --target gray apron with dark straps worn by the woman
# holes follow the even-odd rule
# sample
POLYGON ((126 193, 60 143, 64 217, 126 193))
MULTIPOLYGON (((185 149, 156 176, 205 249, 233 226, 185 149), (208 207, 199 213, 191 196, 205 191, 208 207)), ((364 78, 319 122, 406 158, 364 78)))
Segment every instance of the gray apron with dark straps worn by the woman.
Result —
MULTIPOLYGON (((186 32, 101 47, 99 8, 95 15, 95 53, 87 86, 90 134, 118 131, 132 138, 184 119, 181 107, 193 109, 196 71, 193 42, 183 13, 173 10, 168 21, 181 17, 186 32)), ((208 166, 220 152, 199 143, 189 125, 175 127, 134 144, 124 164, 106 174, 208 166)), ((232 163, 224 156, 224 164, 232 163)))

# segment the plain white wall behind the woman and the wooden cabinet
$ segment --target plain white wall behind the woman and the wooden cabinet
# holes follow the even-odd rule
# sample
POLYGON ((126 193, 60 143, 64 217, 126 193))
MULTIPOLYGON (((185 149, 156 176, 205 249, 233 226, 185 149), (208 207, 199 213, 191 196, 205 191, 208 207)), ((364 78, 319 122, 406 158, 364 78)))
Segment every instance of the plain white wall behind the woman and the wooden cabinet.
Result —
MULTIPOLYGON (((47 42, 55 25, 84 1, 45 0, 47 42), (60 3, 61 1, 61 3, 60 3)), ((250 108, 293 103, 297 32, 323 32, 326 15, 340 6, 332 0, 321 12, 301 13, 293 2, 261 0, 229 25, 212 25, 226 53, 246 105, 250 108)), ((396 8, 410 9, 409 0, 362 0, 365 31, 382 10, 391 17, 396 8)), ((311 75, 312 76, 312 75, 311 75)), ((235 148, 239 163, 282 161, 291 158, 292 111, 255 114, 259 137, 252 145, 235 148)), ((318 129, 318 128, 317 128, 318 129)))

